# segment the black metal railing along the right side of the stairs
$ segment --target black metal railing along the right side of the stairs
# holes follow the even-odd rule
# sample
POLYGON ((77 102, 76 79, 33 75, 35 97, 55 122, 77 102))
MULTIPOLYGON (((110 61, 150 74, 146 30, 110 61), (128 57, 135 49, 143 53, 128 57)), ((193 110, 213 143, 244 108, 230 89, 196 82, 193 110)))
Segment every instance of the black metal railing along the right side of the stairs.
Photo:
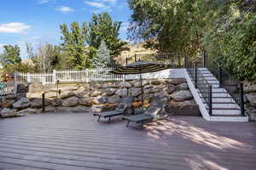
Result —
POLYGON ((232 77, 228 71, 224 69, 214 59, 208 59, 204 55, 204 60, 206 60, 206 67, 212 74, 218 79, 219 87, 224 88, 230 96, 235 100, 236 104, 240 106, 241 115, 244 115, 244 99, 243 99, 243 84, 232 77))

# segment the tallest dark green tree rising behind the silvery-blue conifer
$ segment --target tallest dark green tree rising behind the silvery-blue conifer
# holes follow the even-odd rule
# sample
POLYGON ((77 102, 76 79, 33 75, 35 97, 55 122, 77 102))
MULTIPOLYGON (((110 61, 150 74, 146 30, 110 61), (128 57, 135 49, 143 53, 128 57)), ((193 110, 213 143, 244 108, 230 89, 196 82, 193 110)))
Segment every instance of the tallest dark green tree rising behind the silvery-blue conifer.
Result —
POLYGON ((93 14, 89 23, 88 44, 95 49, 105 41, 112 58, 117 57, 125 48, 126 42, 119 39, 121 22, 113 21, 108 13, 93 14))

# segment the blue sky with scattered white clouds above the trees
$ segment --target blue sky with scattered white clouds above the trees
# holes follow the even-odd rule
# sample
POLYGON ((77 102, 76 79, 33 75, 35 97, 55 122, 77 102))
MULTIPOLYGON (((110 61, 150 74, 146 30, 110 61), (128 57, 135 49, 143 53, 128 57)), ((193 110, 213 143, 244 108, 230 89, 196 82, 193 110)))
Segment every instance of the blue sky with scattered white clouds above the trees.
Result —
POLYGON ((122 21, 121 39, 131 15, 126 0, 2 0, 0 5, 0 52, 3 45, 17 44, 26 59, 26 42, 61 42, 62 23, 89 21, 93 13, 108 12, 113 20, 122 21))

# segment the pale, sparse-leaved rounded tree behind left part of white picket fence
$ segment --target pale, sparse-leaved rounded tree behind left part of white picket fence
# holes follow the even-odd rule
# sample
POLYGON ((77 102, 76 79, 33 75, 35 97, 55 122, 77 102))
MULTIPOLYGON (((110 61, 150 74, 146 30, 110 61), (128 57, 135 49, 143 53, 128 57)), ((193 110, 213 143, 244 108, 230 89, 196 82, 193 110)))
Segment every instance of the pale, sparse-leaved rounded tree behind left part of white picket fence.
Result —
POLYGON ((33 52, 32 44, 26 43, 26 50, 38 71, 50 72, 60 63, 61 52, 58 46, 46 43, 33 52))

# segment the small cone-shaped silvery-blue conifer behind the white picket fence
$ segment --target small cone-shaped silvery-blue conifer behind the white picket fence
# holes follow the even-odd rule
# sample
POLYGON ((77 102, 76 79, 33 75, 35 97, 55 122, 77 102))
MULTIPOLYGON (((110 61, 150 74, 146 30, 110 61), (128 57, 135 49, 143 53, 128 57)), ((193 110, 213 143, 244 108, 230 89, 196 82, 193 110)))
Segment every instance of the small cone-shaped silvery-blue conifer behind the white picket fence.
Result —
POLYGON ((92 59, 95 68, 107 68, 111 65, 109 49, 106 42, 102 41, 99 49, 96 51, 96 56, 92 59))

